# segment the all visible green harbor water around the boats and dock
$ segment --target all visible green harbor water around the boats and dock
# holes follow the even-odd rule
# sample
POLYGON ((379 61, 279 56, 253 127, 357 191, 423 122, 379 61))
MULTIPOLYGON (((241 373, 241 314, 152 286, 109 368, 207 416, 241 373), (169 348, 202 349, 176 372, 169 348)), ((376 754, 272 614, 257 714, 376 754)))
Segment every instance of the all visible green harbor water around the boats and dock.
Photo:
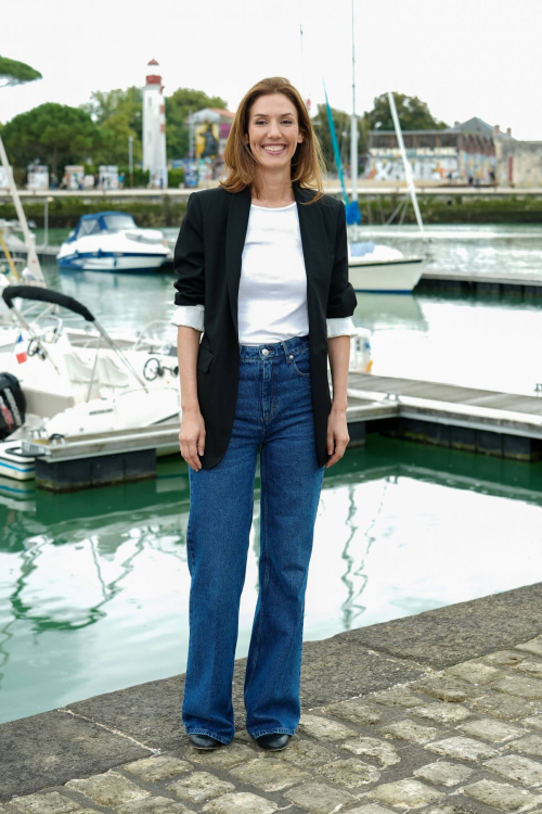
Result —
MULTIPOLYGON (((418 251, 409 241, 386 238, 405 253, 418 251)), ((539 263, 542 229, 451 228, 429 249, 431 267, 457 264, 464 253, 465 268, 485 254, 498 269, 524 264, 526 274, 539 263)), ((82 302, 113 333, 136 335, 172 310, 171 274, 44 271, 51 287, 82 302)), ((542 300, 358 301, 354 322, 372 331, 377 374, 528 394, 542 381, 542 300)), ((66 319, 81 325, 75 315, 66 319)), ((172 326, 166 330, 175 336, 172 326)), ((255 486, 237 658, 248 651, 258 592, 259 478, 255 486)), ((539 581, 541 487, 542 462, 369 432, 365 447, 348 449, 325 473, 305 639, 539 581)), ((184 672, 189 497, 180 457, 162 459, 155 481, 72 495, 0 483, 0 722, 184 672)))

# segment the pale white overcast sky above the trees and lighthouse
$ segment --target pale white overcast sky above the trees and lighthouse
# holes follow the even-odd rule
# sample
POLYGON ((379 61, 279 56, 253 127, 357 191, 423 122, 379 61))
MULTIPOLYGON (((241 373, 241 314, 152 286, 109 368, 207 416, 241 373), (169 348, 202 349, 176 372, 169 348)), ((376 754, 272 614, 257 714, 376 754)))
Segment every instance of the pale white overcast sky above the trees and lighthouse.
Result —
MULTIPOLYGON (((542 0, 353 2, 358 113, 393 90, 449 125, 480 116, 542 140, 542 0)), ((153 56, 166 96, 197 88, 234 111, 254 82, 281 75, 310 94, 312 113, 323 81, 330 103, 351 110, 351 0, 13 0, 2 3, 0 54, 43 75, 0 89, 2 123, 143 85, 153 56)))

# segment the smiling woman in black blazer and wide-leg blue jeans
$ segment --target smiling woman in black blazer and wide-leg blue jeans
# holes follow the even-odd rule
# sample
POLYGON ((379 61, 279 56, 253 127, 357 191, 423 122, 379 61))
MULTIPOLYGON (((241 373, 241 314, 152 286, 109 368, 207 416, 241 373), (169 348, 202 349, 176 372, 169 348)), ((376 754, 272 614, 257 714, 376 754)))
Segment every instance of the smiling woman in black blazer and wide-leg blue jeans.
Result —
POLYGON ((305 589, 324 469, 349 441, 357 300, 345 207, 323 194, 319 143, 287 79, 248 91, 224 161, 220 186, 190 195, 175 252, 179 442, 191 498, 182 720, 199 749, 229 743, 235 732, 234 654, 260 448, 260 588, 244 702, 249 735, 279 750, 300 716, 305 589))

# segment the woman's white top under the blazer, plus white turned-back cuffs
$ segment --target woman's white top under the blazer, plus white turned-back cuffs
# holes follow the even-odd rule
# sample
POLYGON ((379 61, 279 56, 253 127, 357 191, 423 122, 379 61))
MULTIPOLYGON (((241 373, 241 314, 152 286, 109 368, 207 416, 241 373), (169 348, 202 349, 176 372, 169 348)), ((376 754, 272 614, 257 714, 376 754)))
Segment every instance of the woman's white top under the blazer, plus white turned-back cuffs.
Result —
MULTIPOLYGON (((240 345, 309 333, 307 272, 297 204, 250 204, 237 297, 240 345)), ((327 336, 356 335, 351 317, 327 319, 327 336)), ((203 305, 177 305, 171 325, 204 330, 203 305)))

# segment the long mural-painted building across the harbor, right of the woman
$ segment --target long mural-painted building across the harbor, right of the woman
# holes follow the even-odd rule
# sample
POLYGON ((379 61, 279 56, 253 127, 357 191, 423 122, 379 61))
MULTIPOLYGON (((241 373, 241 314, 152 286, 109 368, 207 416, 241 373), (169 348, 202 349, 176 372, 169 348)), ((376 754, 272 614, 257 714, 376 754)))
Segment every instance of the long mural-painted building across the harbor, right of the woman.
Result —
MULTIPOLYGON (((455 122, 443 130, 403 130, 404 149, 415 180, 434 183, 494 183, 498 141, 515 141, 481 118, 455 122)), ((371 130, 363 178, 404 181, 395 130, 371 130)))

